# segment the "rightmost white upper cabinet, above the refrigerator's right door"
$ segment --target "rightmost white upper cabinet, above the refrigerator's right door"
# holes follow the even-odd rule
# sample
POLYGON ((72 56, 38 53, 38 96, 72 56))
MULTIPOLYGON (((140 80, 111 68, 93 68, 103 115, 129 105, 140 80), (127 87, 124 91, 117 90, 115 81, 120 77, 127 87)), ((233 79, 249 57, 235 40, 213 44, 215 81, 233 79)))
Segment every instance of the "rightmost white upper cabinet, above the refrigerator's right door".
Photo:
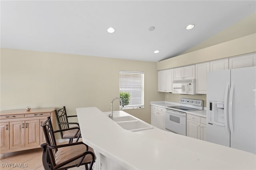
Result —
POLYGON ((229 58, 229 69, 256 66, 256 53, 229 58))

